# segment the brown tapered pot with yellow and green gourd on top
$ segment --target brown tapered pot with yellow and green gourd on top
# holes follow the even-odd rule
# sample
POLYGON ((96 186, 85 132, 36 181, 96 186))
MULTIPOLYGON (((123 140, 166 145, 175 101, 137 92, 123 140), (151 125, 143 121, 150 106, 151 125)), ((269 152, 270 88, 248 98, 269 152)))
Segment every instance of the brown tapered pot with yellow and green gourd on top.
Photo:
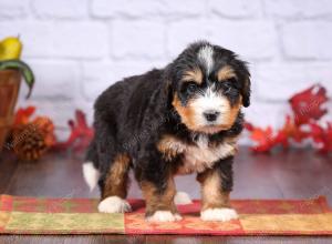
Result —
POLYGON ((21 77, 29 87, 30 96, 34 77, 29 65, 20 60, 22 43, 19 38, 0 42, 0 151, 13 122, 13 112, 20 90, 21 77))

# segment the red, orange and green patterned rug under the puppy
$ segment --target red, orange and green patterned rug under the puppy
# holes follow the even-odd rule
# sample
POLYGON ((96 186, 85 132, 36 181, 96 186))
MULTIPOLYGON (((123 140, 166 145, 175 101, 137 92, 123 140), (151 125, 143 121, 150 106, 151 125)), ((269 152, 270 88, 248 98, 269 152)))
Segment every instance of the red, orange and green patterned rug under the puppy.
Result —
POLYGON ((199 201, 178 206, 183 220, 152 224, 144 202, 129 200, 133 213, 97 213, 96 200, 0 195, 0 233, 9 234, 186 234, 332 235, 332 210, 324 196, 313 200, 236 200, 240 218, 203 222, 199 201))

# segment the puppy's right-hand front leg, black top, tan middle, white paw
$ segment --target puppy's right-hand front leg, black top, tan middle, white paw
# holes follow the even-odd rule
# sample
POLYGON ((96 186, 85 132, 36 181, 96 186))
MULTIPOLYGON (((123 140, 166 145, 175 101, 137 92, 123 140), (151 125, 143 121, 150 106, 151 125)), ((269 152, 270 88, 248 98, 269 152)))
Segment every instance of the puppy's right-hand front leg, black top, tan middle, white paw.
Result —
POLYGON ((201 212, 204 221, 230 221, 238 218, 231 209, 229 193, 232 189, 232 156, 220 160, 214 169, 197 175, 201 184, 201 212))

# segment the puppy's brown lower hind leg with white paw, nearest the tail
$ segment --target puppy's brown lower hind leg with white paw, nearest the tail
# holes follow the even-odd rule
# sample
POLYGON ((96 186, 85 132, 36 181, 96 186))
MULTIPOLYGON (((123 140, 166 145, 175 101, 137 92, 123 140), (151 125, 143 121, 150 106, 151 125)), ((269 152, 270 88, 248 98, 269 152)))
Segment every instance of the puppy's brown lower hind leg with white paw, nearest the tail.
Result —
POLYGON ((102 213, 124 213, 131 211, 127 196, 128 171, 131 159, 127 154, 117 154, 110 164, 108 171, 100 181, 102 201, 98 211, 102 213))

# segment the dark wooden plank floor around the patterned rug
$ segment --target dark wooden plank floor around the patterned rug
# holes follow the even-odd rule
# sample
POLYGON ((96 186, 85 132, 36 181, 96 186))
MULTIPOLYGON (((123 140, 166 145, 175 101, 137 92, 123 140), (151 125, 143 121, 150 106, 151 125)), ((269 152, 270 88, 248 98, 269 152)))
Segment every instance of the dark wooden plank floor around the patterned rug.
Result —
MULTIPOLYGON (((82 155, 50 153, 37 163, 18 162, 0 154, 0 193, 53 197, 97 197, 84 184, 82 155)), ((199 197, 195 175, 176 179, 177 189, 199 197)), ((312 151, 255 155, 241 148, 235 163, 234 199, 308 199, 326 195, 332 205, 332 157, 312 151)), ((139 197, 133 181, 129 197, 139 197)), ((332 224, 332 223, 331 223, 332 224)), ((218 237, 178 235, 82 235, 22 236, 1 235, 0 243, 332 243, 329 237, 218 237)))

